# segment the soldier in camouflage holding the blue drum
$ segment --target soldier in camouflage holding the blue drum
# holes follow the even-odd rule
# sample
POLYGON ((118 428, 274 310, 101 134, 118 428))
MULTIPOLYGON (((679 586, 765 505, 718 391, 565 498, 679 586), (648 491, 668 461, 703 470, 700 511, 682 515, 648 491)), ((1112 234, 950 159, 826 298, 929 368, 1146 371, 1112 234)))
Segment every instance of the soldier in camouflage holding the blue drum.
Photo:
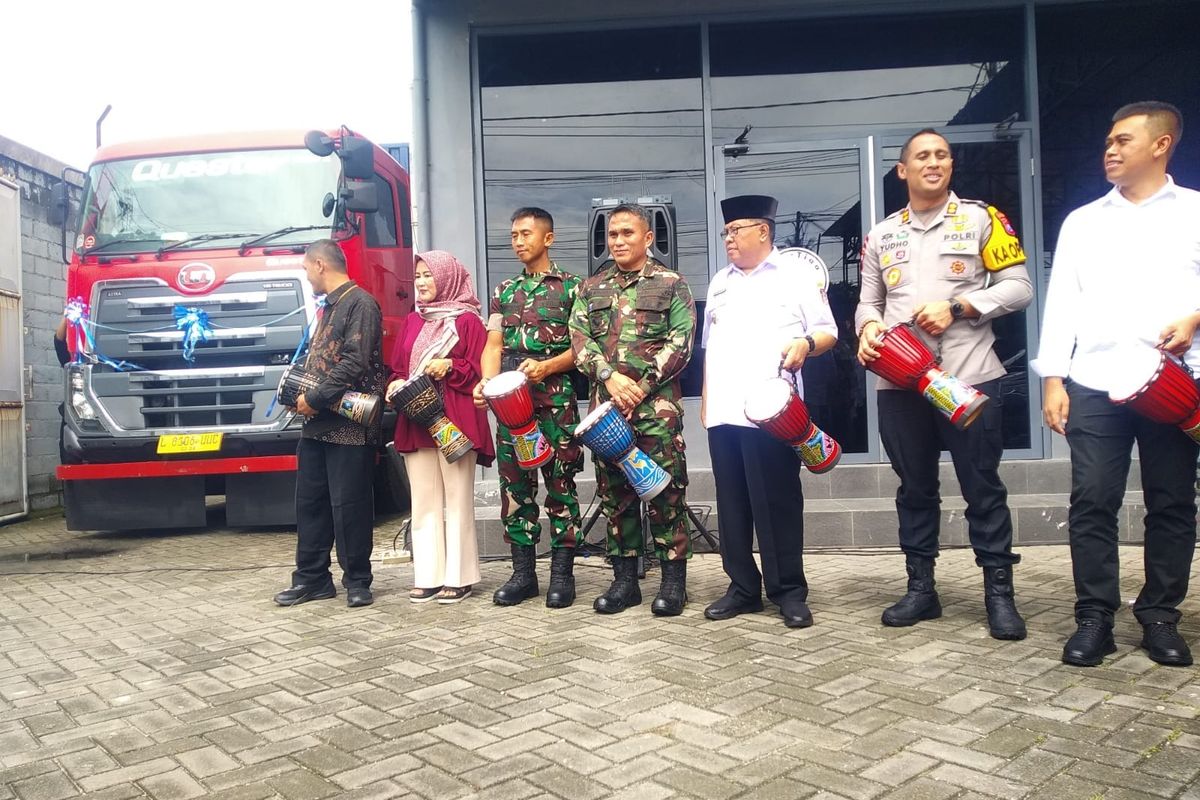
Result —
MULTIPOLYGON (((662 585, 652 610, 674 616, 688 602, 691 558, 679 374, 691 357, 696 305, 688 282, 647 254, 653 241, 646 209, 619 205, 612 211, 608 251, 616 264, 580 287, 570 327, 575 362, 592 379, 593 408, 612 401, 634 427, 637 446, 671 475, 667 488, 648 504, 648 516, 662 564, 662 585)), ((595 467, 614 581, 594 607, 616 614, 642 602, 641 503, 620 469, 600 458, 595 467)))

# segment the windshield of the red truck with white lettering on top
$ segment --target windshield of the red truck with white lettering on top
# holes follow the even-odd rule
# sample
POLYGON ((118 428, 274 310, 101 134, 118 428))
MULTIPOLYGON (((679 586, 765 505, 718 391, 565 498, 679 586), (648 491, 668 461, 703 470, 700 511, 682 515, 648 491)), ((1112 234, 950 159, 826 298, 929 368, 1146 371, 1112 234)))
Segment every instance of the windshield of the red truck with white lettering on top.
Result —
POLYGON ((77 251, 107 253, 224 247, 226 237, 277 231, 272 245, 328 235, 325 194, 340 162, 307 150, 152 156, 92 166, 84 186, 77 251), (325 233, 323 233, 325 231, 325 233))

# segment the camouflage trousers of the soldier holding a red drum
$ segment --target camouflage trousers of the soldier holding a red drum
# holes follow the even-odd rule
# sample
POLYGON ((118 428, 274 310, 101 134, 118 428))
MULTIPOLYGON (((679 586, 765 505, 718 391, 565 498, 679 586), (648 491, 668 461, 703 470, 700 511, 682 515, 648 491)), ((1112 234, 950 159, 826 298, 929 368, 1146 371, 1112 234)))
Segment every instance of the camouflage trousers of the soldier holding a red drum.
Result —
MULTIPOLYGON (((583 469, 583 445, 575 440, 580 411, 575 402, 554 408, 534 386, 534 413, 542 435, 554 450, 554 457, 541 465, 546 481, 546 518, 550 521, 550 546, 575 547, 580 531, 580 499, 575 476, 583 469)), ((504 541, 510 545, 536 545, 541 537, 538 522, 538 470, 517 465, 509 429, 496 427, 496 465, 500 476, 500 516, 504 541)))

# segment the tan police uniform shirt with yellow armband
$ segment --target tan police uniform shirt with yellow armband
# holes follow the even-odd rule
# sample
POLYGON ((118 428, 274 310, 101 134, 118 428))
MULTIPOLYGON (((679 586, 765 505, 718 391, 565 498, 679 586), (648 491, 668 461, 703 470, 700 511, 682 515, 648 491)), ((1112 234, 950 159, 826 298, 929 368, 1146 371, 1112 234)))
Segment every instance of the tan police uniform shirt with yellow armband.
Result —
MULTIPOLYGON (((912 319, 917 306, 961 297, 979 317, 958 319, 940 337, 913 327, 941 366, 968 384, 1000 378, 1004 367, 992 351, 996 337, 991 320, 1020 311, 1033 299, 1033 285, 1024 265, 1024 253, 1007 219, 1006 229, 992 236, 988 205, 962 200, 950 192, 949 201, 928 223, 905 206, 880 222, 863 242, 862 287, 854 330, 869 321, 884 327, 912 319), (1007 245, 995 242, 1003 239, 1007 245), (984 266, 985 247, 992 246, 991 271, 984 266), (1012 251, 1012 252, 1009 252, 1012 251), (1020 264, 1008 266, 1013 260, 1020 264)), ((895 389, 880 379, 880 389, 895 389)))

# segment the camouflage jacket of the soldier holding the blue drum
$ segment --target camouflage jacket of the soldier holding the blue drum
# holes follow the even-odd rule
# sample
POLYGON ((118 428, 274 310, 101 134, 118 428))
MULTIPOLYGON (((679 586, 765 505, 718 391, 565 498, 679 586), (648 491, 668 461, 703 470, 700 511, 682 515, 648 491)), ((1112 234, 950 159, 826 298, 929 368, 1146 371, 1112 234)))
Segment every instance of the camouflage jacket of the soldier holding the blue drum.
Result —
POLYGON ((646 391, 635 417, 654 416, 653 401, 678 403, 679 373, 691 359, 696 303, 688 282, 647 259, 636 272, 613 264, 580 287, 571 308, 575 363, 592 379, 592 402, 608 399, 599 373, 619 372, 646 391))

